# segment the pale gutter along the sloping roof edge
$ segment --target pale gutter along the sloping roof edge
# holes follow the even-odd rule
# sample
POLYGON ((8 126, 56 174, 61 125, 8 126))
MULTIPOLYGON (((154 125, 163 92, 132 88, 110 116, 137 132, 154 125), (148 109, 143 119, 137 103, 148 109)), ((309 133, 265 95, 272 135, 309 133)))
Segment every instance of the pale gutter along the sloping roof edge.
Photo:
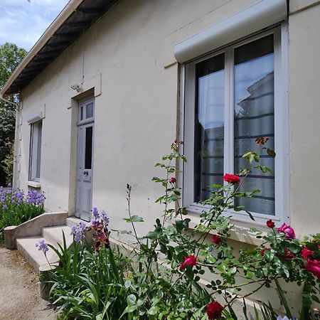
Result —
POLYGON ((26 57, 21 61, 16 70, 14 70, 14 73, 11 74, 11 77, 2 88, 0 92, 1 100, 4 100, 6 90, 9 89, 9 87, 12 85, 14 80, 16 80, 18 75, 20 75, 20 73, 23 71, 24 68, 26 68, 28 63, 30 63, 30 61, 35 57, 35 55, 37 55, 38 52, 43 48, 43 46, 45 46, 45 44, 50 40, 54 33, 58 31, 63 22, 65 22, 65 20, 69 18, 69 16, 78 8, 78 6, 80 6, 82 1, 83 0, 70 0, 63 9, 63 11, 60 12, 59 16, 57 16, 53 23, 51 23, 50 26, 48 26, 47 30, 43 33, 43 35, 36 42, 36 44, 31 48, 26 57))

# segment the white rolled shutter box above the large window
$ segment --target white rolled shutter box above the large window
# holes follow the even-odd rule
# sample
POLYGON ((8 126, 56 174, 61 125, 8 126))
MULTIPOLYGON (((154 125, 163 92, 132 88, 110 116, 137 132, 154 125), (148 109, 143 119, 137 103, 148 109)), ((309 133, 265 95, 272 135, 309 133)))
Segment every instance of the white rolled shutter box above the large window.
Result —
POLYGON ((287 0, 262 0, 174 46, 179 63, 287 19, 287 0))

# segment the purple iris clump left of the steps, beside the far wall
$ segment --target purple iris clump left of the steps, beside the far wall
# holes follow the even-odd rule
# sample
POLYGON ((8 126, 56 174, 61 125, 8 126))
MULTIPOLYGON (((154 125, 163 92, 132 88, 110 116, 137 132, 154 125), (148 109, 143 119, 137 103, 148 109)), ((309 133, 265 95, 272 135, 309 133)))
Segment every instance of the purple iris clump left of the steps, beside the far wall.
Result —
POLYGON ((35 190, 22 190, 0 186, 0 243, 4 241, 4 228, 20 225, 44 212, 45 196, 35 190))

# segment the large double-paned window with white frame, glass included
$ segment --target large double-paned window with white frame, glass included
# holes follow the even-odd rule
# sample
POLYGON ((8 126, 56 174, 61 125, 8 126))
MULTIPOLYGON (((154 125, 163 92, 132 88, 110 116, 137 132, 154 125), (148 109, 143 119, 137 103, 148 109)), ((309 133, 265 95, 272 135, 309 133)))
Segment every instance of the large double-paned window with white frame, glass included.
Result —
MULTIPOLYGON (((262 166, 272 173, 253 172, 241 191, 260 190, 252 198, 238 198, 255 220, 282 220, 284 148, 286 137, 286 92, 283 85, 282 27, 226 46, 204 58, 186 63, 184 73, 183 206, 203 210, 201 201, 210 196, 210 186, 223 184, 224 174, 238 173, 246 166, 242 155, 257 151, 255 139, 268 137, 267 146, 277 153, 263 153, 262 166)), ((247 220, 246 213, 231 212, 247 220)))

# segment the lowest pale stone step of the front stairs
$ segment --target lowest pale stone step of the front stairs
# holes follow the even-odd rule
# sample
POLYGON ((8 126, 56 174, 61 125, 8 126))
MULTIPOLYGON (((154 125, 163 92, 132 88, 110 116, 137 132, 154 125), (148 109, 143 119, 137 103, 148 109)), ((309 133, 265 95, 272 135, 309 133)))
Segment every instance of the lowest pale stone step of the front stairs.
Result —
MULTIPOLYGON (((16 240, 18 250, 36 271, 39 271, 39 267, 48 265, 48 261, 50 264, 54 264, 59 261, 58 255, 56 255, 51 249, 46 253, 48 261, 46 260, 43 252, 39 251, 38 247, 36 247, 36 243, 40 240, 43 240, 43 237, 40 235, 36 237, 19 238, 16 240)), ((46 239, 44 240, 50 244, 46 239)))

